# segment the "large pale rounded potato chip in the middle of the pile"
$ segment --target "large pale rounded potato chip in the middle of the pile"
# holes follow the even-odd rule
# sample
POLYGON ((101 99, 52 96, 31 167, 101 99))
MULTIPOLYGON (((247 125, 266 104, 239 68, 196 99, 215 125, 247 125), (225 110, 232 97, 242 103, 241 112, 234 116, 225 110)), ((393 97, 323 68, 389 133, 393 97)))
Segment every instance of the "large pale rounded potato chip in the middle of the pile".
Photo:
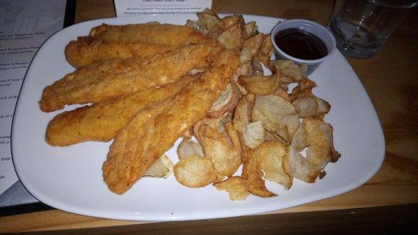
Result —
MULTIPOLYGON (((273 132, 278 132, 281 128, 286 127, 288 128, 287 137, 291 137, 297 130, 298 121, 295 128, 293 124, 296 122, 293 120, 295 115, 284 117, 292 114, 296 114, 295 107, 284 98, 275 95, 257 96, 251 112, 251 119, 252 121, 262 121, 265 129, 273 132)), ((286 137, 284 138, 286 139, 286 137)))

